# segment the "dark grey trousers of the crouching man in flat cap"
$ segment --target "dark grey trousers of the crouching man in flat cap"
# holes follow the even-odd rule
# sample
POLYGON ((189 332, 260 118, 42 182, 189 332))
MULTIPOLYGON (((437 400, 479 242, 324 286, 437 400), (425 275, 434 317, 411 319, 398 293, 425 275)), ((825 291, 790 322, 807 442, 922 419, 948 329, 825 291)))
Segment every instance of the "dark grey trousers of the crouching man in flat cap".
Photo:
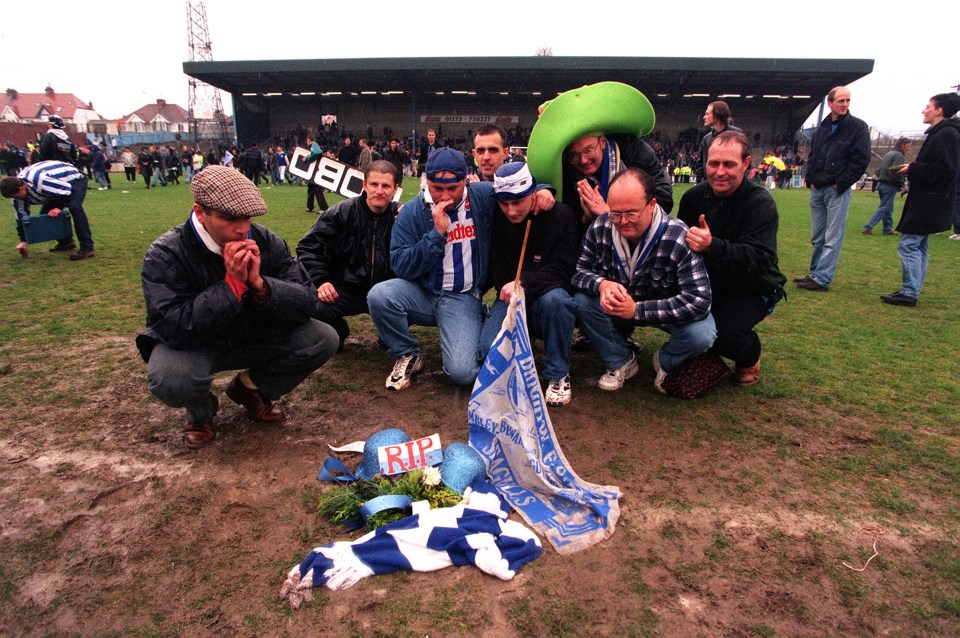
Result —
POLYGON ((187 409, 187 423, 214 416, 210 397, 213 374, 250 369, 263 396, 276 401, 329 359, 340 341, 330 326, 311 319, 288 329, 265 330, 232 350, 174 350, 158 343, 147 362, 150 392, 172 408, 187 409))

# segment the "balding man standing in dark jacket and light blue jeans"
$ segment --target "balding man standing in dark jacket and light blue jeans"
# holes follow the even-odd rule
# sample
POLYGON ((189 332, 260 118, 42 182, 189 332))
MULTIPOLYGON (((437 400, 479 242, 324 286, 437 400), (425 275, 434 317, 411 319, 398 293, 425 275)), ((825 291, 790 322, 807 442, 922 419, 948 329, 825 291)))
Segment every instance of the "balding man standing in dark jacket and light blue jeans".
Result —
POLYGON ((838 86, 827 94, 830 115, 813 134, 806 182, 810 191, 810 274, 796 277, 798 288, 827 292, 840 261, 851 187, 870 163, 867 124, 850 115, 850 89, 838 86))

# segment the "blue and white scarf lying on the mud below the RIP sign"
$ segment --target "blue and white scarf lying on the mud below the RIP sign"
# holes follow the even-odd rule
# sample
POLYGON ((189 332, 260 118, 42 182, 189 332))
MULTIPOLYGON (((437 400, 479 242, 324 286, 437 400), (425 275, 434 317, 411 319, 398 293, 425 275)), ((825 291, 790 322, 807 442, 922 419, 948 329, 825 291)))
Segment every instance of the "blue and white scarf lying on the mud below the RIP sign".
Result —
POLYGON ((280 597, 296 609, 312 599, 314 587, 336 591, 374 574, 451 565, 475 565, 510 580, 543 548, 530 529, 507 520, 507 514, 496 493, 468 490, 460 505, 415 513, 352 543, 317 547, 288 572, 280 597))

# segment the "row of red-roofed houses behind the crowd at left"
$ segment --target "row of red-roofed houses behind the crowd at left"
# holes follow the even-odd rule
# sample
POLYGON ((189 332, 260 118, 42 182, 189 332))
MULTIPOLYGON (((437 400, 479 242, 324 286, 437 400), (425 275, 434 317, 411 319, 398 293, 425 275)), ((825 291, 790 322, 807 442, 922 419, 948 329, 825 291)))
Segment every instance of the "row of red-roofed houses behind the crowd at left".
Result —
MULTIPOLYGON (((34 130, 35 125, 45 125, 51 115, 60 116, 69 133, 100 139, 107 136, 137 138, 147 135, 154 141, 193 138, 187 110, 166 100, 145 104, 118 120, 108 120, 97 113, 92 102, 84 102, 73 93, 57 93, 50 86, 43 93, 20 93, 15 89, 7 89, 6 93, 0 94, 0 123, 34 125, 23 128, 30 139, 14 142, 32 141, 29 131, 34 130)), ((204 133, 219 132, 219 122, 214 118, 198 118, 197 128, 201 137, 217 137, 204 133)), ((9 127, 4 129, 11 130, 9 127)))

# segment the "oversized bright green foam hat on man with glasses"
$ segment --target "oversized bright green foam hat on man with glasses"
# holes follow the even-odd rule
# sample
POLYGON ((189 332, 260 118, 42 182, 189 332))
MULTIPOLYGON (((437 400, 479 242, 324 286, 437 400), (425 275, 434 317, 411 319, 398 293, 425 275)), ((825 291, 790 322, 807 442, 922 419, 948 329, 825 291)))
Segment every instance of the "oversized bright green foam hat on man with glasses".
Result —
POLYGON ((647 96, 622 82, 582 86, 542 108, 530 133, 527 164, 537 182, 557 189, 558 200, 563 198, 563 152, 570 144, 590 135, 647 135, 656 122, 647 96))

